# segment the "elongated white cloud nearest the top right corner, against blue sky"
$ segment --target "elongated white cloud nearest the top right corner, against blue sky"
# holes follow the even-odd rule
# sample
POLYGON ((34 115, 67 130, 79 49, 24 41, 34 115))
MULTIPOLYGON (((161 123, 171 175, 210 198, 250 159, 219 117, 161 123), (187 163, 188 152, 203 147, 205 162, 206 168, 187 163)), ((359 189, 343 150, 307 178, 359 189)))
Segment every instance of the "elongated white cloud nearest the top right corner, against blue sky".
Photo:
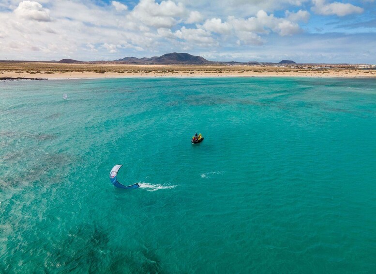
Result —
POLYGON ((316 14, 346 16, 354 13, 362 13, 363 9, 349 3, 326 3, 326 0, 312 0, 314 6, 311 8, 316 14))

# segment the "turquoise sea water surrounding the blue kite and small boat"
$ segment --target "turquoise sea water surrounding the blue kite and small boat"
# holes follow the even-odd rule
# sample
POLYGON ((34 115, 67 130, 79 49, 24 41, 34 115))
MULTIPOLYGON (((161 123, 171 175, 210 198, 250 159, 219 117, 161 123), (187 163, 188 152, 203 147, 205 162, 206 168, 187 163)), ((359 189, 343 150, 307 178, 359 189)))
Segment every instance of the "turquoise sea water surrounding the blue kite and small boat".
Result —
POLYGON ((65 272, 375 273, 376 80, 1 82, 0 273, 65 272))

